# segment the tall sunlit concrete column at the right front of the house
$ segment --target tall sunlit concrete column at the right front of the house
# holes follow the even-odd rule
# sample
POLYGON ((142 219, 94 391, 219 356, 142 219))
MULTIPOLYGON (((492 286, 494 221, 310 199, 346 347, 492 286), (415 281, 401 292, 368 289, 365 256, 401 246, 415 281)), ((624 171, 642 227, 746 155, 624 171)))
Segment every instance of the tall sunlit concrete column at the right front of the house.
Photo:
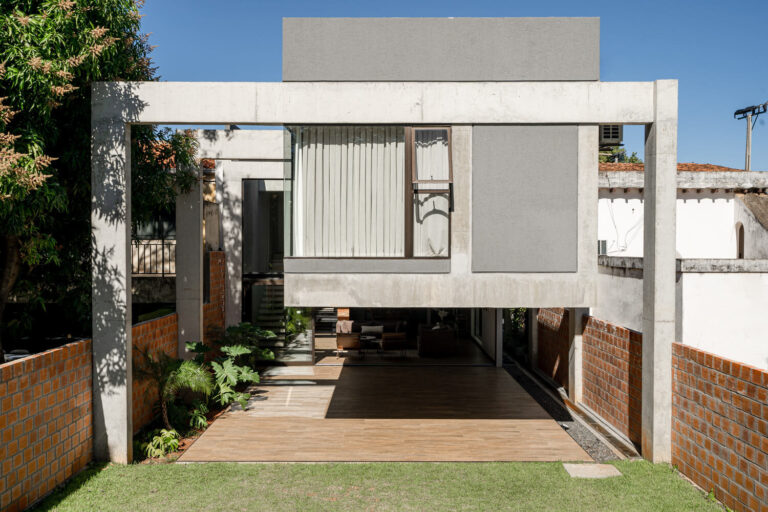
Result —
POLYGON ((646 459, 669 462, 675 340, 677 80, 654 84, 654 122, 645 128, 644 174, 641 446, 646 459))

